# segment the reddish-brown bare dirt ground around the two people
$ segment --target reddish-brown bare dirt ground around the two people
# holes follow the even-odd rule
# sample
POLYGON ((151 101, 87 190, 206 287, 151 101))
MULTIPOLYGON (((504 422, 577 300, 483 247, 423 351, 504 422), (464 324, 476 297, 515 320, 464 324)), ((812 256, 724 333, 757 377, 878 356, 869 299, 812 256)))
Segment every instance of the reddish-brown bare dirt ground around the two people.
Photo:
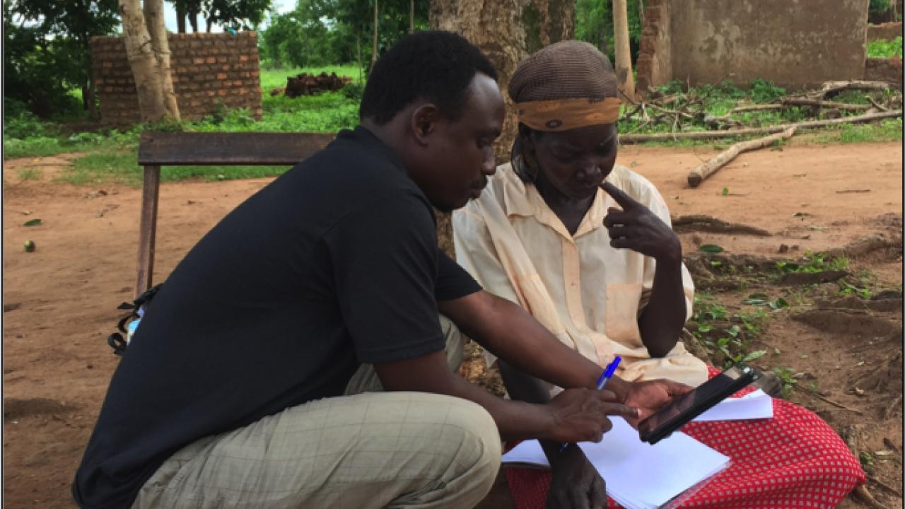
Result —
MULTIPOLYGON (((762 369, 789 368, 797 381, 789 399, 813 409, 855 450, 866 453, 866 495, 851 496, 841 507, 900 507, 901 144, 795 143, 760 150, 743 154, 701 187, 688 188, 685 175, 714 153, 626 146, 619 163, 651 179, 673 216, 715 216, 771 234, 695 227, 680 235, 696 282, 730 312, 741 309, 749 293, 784 296, 791 304, 769 313, 750 350, 770 352, 754 362, 762 369), (864 241, 866 235, 874 236, 864 241), (726 249, 719 264, 713 263, 716 258, 693 255, 703 244, 726 249), (806 250, 846 245, 852 263, 844 281, 869 285, 870 299, 840 295, 838 282, 778 282, 764 268, 772 262, 762 267, 748 256, 800 258, 806 250), (740 270, 729 271, 730 266, 740 270)), ((4 163, 8 507, 73 506, 72 475, 118 360, 105 340, 119 318, 117 305, 130 300, 135 281, 140 189, 62 183, 55 177, 66 171, 70 158, 4 163), (28 168, 36 171, 23 171, 28 168), (21 178, 29 173, 41 175, 21 178), (24 226, 32 219, 41 224, 24 226), (32 253, 24 251, 27 240, 36 245, 32 253)), ((164 280, 201 235, 268 181, 164 184, 155 281, 164 280)), ((480 383, 499 383, 478 360, 464 365, 463 372, 480 383)), ((500 478, 482 506, 508 504, 500 478)))

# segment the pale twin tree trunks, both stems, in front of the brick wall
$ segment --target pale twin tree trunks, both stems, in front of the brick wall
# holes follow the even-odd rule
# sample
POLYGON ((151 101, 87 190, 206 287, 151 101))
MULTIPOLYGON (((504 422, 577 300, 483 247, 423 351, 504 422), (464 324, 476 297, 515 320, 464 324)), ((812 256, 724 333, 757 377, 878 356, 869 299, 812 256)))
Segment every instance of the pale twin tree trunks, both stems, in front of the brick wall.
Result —
MULTIPOLYGON (((158 37, 162 34, 163 39, 166 40, 166 28, 161 29, 157 26, 157 24, 163 24, 163 16, 157 15, 163 11, 163 0, 145 0, 145 8, 152 14, 150 21, 156 24, 153 34, 157 34, 158 37)), ((155 41, 151 38, 152 33, 148 31, 141 0, 119 0, 119 15, 122 19, 126 55, 129 58, 129 66, 132 68, 135 88, 138 91, 138 109, 141 112, 141 120, 145 122, 166 120, 167 118, 179 120, 176 101, 170 101, 170 98, 167 97, 165 82, 170 79, 169 68, 167 66, 165 69, 161 64, 162 58, 157 50, 162 46, 159 40, 155 41), (167 73, 166 79, 164 72, 167 73)), ((171 93, 171 79, 170 87, 171 93)))

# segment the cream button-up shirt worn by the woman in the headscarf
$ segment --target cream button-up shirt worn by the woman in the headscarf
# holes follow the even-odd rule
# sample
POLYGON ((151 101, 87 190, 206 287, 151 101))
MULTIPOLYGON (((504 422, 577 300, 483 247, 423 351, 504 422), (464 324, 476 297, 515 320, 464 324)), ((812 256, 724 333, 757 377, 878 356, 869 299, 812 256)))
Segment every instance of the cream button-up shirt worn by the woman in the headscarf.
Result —
MULTIPOLYGON (((616 166, 606 180, 671 225, 666 203, 646 178, 616 166)), ((707 367, 681 341, 662 358, 652 359, 644 347, 638 316, 650 297, 656 262, 610 246, 603 226, 609 207, 619 206, 598 189, 571 235, 537 188, 505 164, 481 197, 452 214, 456 260, 485 290, 521 305, 587 359, 604 366, 622 356, 620 377, 700 385, 707 367)), ((681 270, 688 318, 694 284, 684 264, 681 270)), ((493 360, 488 353, 488 363, 493 360)))

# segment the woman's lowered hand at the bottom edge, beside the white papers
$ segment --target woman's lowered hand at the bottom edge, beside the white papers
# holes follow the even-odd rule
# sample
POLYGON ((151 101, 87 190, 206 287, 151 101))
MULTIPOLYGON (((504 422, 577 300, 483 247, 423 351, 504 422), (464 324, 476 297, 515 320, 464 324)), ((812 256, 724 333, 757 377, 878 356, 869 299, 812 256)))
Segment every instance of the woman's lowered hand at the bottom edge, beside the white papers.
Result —
POLYGON ((547 492, 548 509, 602 509, 606 506, 604 480, 575 445, 559 453, 547 492))

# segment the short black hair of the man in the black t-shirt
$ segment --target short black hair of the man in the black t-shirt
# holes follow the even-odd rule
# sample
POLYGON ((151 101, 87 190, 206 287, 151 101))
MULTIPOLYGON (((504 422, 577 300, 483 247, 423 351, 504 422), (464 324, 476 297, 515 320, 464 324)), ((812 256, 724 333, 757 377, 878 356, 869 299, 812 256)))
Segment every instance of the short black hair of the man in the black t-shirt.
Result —
POLYGON ((358 109, 359 119, 386 124, 416 99, 433 102, 449 120, 458 120, 474 75, 497 80, 481 51, 452 32, 406 35, 374 65, 358 109))

